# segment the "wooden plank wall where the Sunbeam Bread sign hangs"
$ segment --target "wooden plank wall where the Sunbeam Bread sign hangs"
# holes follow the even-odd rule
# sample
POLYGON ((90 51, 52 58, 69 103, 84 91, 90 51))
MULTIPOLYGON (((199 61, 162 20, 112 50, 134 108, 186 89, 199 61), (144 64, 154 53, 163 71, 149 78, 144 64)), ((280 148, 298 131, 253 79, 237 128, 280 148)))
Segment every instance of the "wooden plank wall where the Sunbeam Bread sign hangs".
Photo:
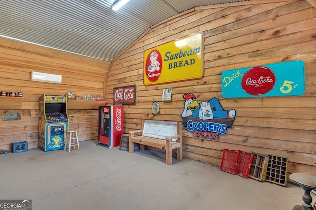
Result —
POLYGON ((220 165, 224 148, 288 157, 290 173, 316 175, 316 9, 305 0, 248 1, 197 7, 147 30, 113 62, 106 79, 114 87, 136 84, 136 105, 125 105, 124 132, 140 129, 140 119, 181 121, 183 94, 198 101, 217 97, 236 109, 232 129, 217 141, 191 137, 183 130, 184 157, 220 165), (265 2, 265 3, 262 3, 265 2), (144 50, 204 31, 204 77, 171 84, 143 85, 144 50), (298 97, 224 99, 221 73, 291 60, 305 62, 306 92, 298 97), (162 90, 173 88, 172 101, 162 90), (160 102, 153 115, 151 103, 160 102))

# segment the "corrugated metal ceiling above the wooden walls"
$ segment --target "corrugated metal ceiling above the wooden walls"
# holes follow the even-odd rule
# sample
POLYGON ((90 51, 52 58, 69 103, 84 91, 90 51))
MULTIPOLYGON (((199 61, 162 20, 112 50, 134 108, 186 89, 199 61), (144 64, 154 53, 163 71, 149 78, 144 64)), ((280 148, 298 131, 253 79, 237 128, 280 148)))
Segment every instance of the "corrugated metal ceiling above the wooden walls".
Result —
POLYGON ((247 0, 0 0, 0 36, 112 61, 151 26, 188 9, 247 0))

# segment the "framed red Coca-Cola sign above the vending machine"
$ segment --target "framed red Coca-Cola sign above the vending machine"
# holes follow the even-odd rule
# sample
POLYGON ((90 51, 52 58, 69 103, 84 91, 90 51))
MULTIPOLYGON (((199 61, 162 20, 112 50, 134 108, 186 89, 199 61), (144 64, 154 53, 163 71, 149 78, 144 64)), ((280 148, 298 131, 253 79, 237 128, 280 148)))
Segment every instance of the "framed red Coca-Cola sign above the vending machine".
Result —
POLYGON ((136 104, 136 85, 113 88, 113 104, 136 104))

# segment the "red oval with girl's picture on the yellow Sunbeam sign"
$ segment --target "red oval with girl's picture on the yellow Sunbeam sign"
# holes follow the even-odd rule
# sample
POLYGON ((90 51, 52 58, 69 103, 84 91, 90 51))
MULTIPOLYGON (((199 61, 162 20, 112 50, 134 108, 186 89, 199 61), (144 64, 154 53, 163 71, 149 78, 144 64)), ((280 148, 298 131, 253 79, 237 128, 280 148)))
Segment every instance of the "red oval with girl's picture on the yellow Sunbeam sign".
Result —
POLYGON ((162 58, 158 50, 151 51, 146 59, 146 77, 151 82, 158 80, 162 69, 162 58))

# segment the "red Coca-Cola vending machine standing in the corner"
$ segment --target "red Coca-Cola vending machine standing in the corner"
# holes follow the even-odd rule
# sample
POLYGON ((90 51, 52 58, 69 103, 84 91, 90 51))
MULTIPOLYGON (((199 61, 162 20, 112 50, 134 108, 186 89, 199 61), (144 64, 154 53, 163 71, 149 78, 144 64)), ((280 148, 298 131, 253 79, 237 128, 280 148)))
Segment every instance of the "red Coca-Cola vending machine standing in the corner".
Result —
POLYGON ((99 106, 98 144, 108 148, 120 144, 124 134, 124 107, 121 105, 99 106))

